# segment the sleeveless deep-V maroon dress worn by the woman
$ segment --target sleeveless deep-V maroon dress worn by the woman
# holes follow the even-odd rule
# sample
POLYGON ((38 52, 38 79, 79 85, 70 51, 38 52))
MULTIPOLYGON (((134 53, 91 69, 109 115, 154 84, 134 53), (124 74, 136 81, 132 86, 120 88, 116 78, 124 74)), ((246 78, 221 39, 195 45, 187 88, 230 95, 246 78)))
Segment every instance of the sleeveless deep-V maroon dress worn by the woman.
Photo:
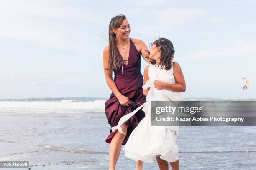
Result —
MULTIPOLYGON (((123 60, 121 55, 120 57, 121 60, 123 60)), ((118 125, 123 115, 133 112, 133 110, 146 102, 146 97, 143 95, 142 89, 143 76, 141 74, 141 55, 138 53, 131 39, 128 64, 123 64, 123 74, 122 68, 114 70, 114 74, 114 82, 119 92, 129 98, 130 105, 129 107, 121 105, 115 94, 113 92, 111 93, 110 98, 105 102, 105 113, 111 127, 118 125)), ((145 113, 139 110, 127 121, 127 133, 122 145, 125 145, 127 142, 133 128, 135 128, 136 122, 140 122, 143 117, 145 117, 145 113)), ((115 132, 116 131, 117 130, 115 130, 115 132)), ((112 132, 110 128, 110 134, 106 139, 107 143, 111 142, 115 132, 112 132)))

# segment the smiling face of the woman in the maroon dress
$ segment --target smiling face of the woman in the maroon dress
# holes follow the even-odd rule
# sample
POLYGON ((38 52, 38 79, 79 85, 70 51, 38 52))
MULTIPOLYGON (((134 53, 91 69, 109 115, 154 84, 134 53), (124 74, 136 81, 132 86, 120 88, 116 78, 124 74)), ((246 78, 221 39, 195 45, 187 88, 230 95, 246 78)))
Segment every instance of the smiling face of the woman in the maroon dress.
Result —
POLYGON ((123 23, 120 25, 120 27, 117 29, 113 29, 113 32, 115 32, 118 39, 128 39, 131 32, 128 20, 123 20, 123 23))

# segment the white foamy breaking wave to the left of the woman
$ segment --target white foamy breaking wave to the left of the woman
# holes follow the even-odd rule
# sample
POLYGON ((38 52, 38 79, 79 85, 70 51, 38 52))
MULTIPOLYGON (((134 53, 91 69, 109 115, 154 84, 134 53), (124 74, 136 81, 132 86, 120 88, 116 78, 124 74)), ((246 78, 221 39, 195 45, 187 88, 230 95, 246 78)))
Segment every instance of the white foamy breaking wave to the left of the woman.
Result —
POLYGON ((1 115, 104 113, 105 100, 0 101, 1 115))

